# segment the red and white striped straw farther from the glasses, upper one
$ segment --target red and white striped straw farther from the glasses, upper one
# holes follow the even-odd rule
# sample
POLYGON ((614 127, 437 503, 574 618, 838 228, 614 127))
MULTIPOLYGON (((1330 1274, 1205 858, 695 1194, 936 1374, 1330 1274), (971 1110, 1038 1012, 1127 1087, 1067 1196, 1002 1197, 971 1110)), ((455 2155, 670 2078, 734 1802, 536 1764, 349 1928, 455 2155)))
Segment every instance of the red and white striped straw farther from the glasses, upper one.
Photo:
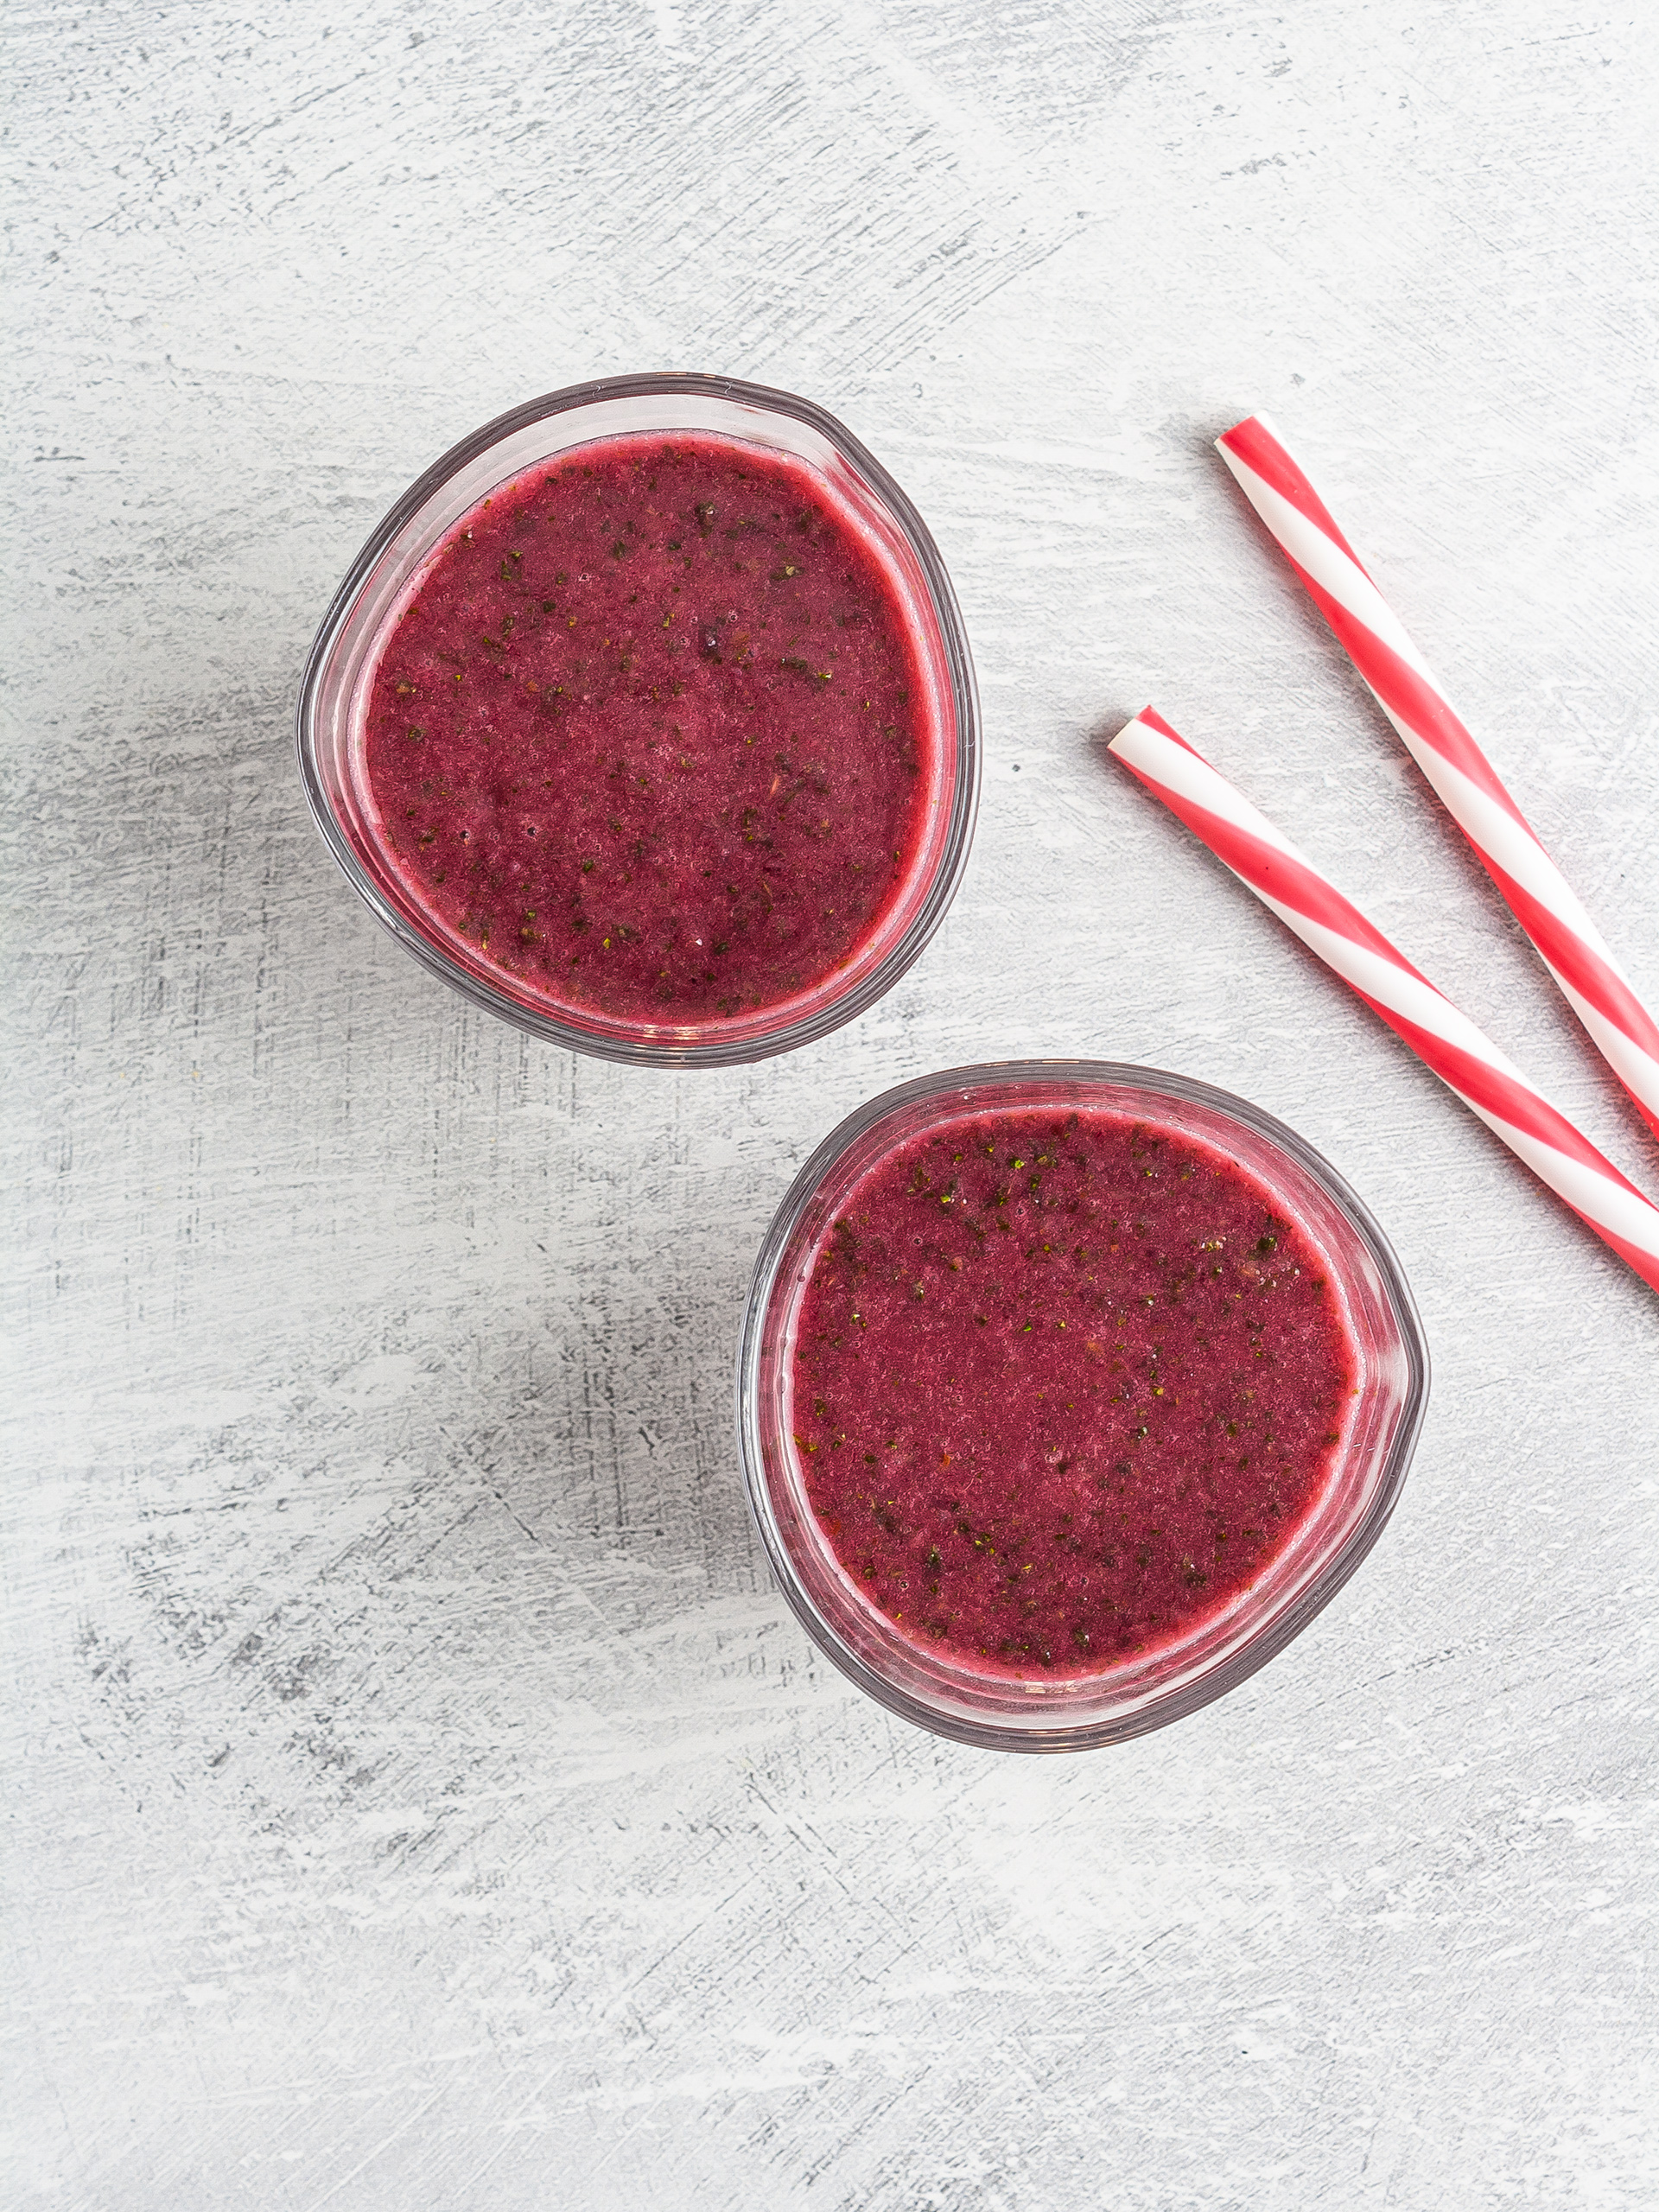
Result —
POLYGON ((1659 1137, 1659 1026, 1265 416, 1217 438, 1314 604, 1659 1137))

